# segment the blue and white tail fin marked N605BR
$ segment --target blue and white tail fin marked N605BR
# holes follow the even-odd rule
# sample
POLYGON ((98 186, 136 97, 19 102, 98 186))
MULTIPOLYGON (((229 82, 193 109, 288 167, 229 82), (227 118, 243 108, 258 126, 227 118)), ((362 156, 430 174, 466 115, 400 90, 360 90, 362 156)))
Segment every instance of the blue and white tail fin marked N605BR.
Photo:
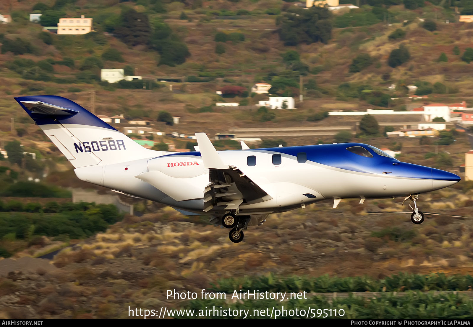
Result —
POLYGON ((38 95, 15 100, 75 168, 148 158, 160 152, 143 148, 69 99, 38 95))

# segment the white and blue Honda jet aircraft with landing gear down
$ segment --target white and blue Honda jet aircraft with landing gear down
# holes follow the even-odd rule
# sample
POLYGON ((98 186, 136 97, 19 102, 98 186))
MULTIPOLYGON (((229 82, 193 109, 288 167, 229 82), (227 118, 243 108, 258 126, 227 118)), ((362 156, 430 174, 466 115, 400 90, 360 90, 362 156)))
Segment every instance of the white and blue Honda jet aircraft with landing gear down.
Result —
POLYGON ((210 215, 238 243, 248 225, 272 213, 326 199, 410 200, 411 220, 424 221, 418 195, 448 187, 460 177, 405 163, 374 146, 339 143, 216 151, 196 133, 196 151, 145 149, 66 98, 22 96, 16 101, 75 168, 83 181, 157 201, 185 215, 210 215), (411 203, 413 202, 414 207, 411 203))

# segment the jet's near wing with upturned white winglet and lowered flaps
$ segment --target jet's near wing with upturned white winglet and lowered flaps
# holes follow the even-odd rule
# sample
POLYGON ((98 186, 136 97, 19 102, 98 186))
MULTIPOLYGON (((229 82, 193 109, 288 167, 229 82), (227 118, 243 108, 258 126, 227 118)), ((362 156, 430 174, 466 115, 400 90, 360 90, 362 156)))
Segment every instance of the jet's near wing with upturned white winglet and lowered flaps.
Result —
POLYGON ((205 133, 196 133, 195 136, 210 176, 210 183, 204 190, 204 211, 214 207, 236 210, 242 203, 257 203, 272 199, 271 195, 240 169, 225 165, 205 133))

